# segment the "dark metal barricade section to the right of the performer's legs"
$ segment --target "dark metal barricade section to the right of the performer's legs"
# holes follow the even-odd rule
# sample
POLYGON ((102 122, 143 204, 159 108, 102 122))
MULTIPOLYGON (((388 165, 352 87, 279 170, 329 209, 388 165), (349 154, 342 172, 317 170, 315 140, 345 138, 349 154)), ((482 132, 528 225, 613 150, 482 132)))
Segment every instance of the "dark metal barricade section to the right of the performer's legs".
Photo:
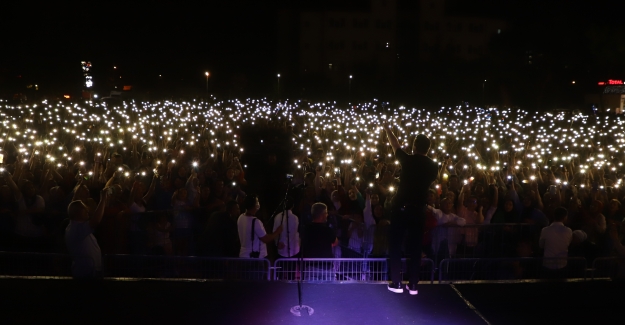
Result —
POLYGON ((480 280, 540 280, 586 279, 586 259, 568 258, 459 258, 441 261, 438 272, 440 283, 472 282, 480 280), (552 270, 543 265, 564 265, 552 270))

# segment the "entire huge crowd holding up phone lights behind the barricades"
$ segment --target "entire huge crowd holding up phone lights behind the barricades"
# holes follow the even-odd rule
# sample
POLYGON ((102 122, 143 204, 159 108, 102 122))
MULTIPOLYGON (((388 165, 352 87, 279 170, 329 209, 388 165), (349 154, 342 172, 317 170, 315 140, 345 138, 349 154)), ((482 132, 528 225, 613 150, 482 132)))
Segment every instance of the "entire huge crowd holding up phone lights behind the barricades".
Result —
POLYGON ((439 165, 425 256, 625 254, 620 116, 248 99, 44 101, 4 105, 0 121, 0 250, 72 252, 84 219, 101 254, 288 257, 321 224, 336 240, 307 257, 386 256, 390 123, 405 147, 427 135, 439 165), (244 150, 249 129, 280 136, 244 150), (259 149, 272 143, 287 154, 259 149), (571 230, 555 253, 553 222, 571 230))

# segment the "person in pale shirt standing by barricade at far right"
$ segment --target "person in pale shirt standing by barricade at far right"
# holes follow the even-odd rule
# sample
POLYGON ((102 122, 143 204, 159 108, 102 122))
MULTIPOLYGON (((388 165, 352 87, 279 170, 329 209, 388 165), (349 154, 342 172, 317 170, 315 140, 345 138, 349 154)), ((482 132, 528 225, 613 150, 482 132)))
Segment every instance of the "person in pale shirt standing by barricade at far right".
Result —
POLYGON ((542 229, 540 233, 539 245, 545 250, 543 260, 543 270, 548 277, 560 277, 567 265, 569 245, 573 238, 571 228, 564 225, 568 211, 559 207, 554 211, 551 225, 542 229))

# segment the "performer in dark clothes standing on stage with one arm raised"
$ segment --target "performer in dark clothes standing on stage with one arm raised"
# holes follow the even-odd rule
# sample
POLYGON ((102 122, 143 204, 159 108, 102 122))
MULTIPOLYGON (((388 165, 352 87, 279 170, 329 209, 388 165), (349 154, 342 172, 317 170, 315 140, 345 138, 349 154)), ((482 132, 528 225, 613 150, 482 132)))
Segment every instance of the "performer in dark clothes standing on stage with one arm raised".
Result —
POLYGON ((384 131, 393 147, 397 161, 401 164, 399 186, 392 201, 392 217, 390 226, 390 260, 391 283, 388 290, 395 293, 404 292, 401 285, 401 257, 404 235, 408 233, 406 253, 410 255, 408 262, 409 282, 406 289, 416 295, 421 267, 421 246, 425 226, 425 209, 428 189, 436 180, 438 166, 427 157, 430 150, 430 139, 423 134, 417 135, 412 143, 412 155, 407 154, 399 144, 397 137, 388 124, 384 131))

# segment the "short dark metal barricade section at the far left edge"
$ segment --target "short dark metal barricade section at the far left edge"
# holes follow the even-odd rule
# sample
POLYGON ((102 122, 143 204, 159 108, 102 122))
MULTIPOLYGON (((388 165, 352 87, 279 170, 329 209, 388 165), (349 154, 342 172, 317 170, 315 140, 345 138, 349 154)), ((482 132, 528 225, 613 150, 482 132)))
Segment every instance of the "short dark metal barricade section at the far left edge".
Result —
POLYGON ((0 275, 71 277, 71 267, 67 254, 0 252, 0 275))

